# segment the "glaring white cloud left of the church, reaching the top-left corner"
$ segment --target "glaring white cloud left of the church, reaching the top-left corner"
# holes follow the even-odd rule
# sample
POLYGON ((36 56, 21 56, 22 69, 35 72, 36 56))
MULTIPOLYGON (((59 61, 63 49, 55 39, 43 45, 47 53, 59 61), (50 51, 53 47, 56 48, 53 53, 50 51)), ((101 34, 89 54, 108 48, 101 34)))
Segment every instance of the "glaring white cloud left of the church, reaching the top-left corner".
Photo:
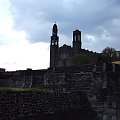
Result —
POLYGON ((31 44, 27 40, 27 30, 13 30, 14 20, 9 7, 9 0, 0 1, 0 68, 7 71, 48 68, 49 43, 31 44))

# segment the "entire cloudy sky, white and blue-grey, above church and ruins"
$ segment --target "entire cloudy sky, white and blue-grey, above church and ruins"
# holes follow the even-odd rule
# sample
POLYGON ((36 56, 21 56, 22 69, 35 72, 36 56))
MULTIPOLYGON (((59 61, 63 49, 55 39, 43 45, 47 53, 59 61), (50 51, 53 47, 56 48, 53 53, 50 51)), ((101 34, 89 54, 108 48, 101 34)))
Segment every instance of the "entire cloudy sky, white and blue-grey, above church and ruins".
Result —
POLYGON ((55 22, 60 46, 79 29, 83 49, 120 51, 120 0, 0 0, 0 68, 48 68, 55 22))

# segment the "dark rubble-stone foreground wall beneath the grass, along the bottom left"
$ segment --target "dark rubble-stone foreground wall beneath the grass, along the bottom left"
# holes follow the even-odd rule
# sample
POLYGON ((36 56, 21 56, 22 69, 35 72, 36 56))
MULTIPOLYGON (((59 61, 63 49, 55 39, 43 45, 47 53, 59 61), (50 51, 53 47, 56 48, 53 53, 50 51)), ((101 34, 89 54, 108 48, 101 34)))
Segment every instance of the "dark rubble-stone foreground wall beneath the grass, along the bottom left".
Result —
POLYGON ((97 119, 82 92, 0 92, 0 120, 76 119, 97 119))

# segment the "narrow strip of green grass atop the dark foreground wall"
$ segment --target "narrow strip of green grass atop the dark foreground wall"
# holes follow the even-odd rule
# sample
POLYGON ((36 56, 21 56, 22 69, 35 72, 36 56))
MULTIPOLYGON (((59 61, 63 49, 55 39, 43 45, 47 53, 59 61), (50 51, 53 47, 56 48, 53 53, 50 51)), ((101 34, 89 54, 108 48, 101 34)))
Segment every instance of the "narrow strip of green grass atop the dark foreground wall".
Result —
POLYGON ((52 93, 50 90, 41 88, 10 88, 0 87, 0 92, 40 92, 40 93, 52 93))

